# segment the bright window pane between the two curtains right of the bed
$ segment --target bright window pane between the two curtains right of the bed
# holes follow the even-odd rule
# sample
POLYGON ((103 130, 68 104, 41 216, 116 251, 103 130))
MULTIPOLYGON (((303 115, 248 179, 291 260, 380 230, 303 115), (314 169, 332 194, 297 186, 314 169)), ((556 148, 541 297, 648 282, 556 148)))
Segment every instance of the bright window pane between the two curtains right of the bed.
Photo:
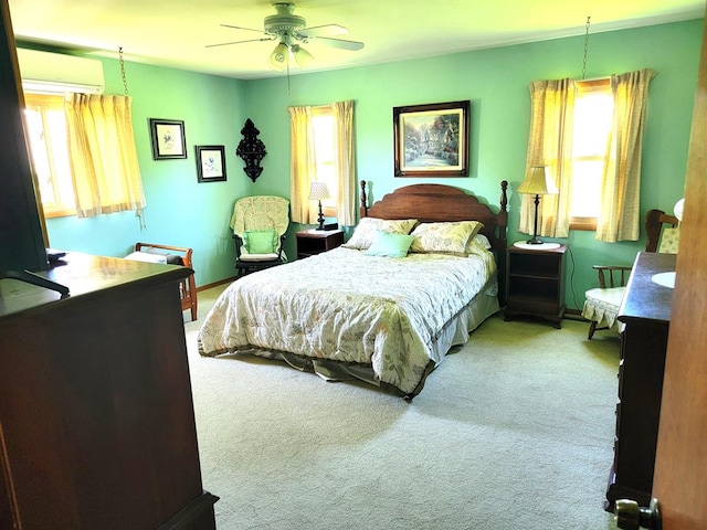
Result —
POLYGON ((595 230, 613 113, 610 80, 577 82, 572 130, 570 229, 595 230))

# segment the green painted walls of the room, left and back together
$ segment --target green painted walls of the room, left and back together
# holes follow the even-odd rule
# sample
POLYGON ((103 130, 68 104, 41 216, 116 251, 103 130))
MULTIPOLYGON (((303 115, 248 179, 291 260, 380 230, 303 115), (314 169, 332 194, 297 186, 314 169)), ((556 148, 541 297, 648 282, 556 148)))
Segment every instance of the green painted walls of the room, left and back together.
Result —
MULTIPOLYGON (((655 25, 590 35, 587 77, 643 67, 657 72, 651 83, 644 138, 642 212, 672 211, 683 195, 687 146, 703 21, 655 25)), ((134 124, 148 208, 140 232, 131 213, 92 220, 49 220, 51 244, 103 255, 124 255, 136 241, 192 246, 197 284, 233 276, 233 201, 247 194, 289 195, 292 105, 356 102, 356 157, 359 180, 372 181, 380 199, 401 186, 439 182, 471 190, 497 204, 500 180, 515 189, 523 178, 534 80, 581 76, 584 39, 570 38, 457 53, 441 57, 257 81, 234 81, 169 68, 127 64, 134 96, 134 124), (471 177, 393 177, 392 107, 471 99, 471 177), (154 161, 147 120, 183 119, 189 158, 154 161), (267 148, 255 184, 235 157, 240 129, 250 117, 267 148), (194 145, 225 145, 226 182, 197 183, 194 145)), ((314 52, 313 52, 314 53, 314 52)), ((341 53, 349 53, 342 51, 341 53)), ((105 60, 108 93, 123 93, 117 61, 105 60)), ((511 191, 509 241, 517 233, 519 199, 511 191)), ((291 234, 298 226, 291 227, 291 234)), ((645 237, 645 236, 643 236, 645 237)), ((643 241, 606 244, 593 233, 572 232, 568 259, 568 306, 581 307, 593 286, 594 263, 631 264, 643 241), (571 273, 571 274, 570 274, 571 273), (576 296, 574 296, 576 294, 576 296)), ((286 246, 294 255, 294 236, 286 246)))

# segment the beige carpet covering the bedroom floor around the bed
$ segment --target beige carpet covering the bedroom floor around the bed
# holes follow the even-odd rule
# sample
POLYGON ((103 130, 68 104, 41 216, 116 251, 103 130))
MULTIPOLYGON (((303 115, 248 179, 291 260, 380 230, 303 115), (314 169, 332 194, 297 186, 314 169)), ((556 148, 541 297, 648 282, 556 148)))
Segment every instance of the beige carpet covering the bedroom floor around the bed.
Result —
MULTIPOLYGON (((199 294, 200 318, 221 288, 199 294)), ((604 530, 619 341, 494 317, 412 402, 254 357, 186 325, 204 489, 221 530, 604 530)))

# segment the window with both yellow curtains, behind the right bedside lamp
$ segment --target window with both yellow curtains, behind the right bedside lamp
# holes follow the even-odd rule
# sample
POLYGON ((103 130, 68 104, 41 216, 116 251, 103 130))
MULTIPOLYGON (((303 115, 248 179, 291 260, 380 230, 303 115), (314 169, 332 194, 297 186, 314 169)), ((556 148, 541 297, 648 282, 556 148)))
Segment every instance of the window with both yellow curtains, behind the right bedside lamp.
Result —
MULTIPOLYGON (((655 72, 643 68, 635 72, 611 75, 605 83, 611 86, 611 103, 598 97, 603 92, 602 82, 576 82, 563 80, 540 80, 530 83, 530 130, 528 134, 527 166, 548 166, 556 180, 558 194, 546 195, 538 210, 538 234, 550 237, 567 237, 572 221, 572 208, 577 220, 580 215, 595 225, 598 241, 637 241, 641 236, 641 144, 648 99, 648 84, 655 72), (579 91, 584 85, 585 91, 579 91), (592 86, 595 85, 595 86, 592 86), (581 92, 581 94, 580 94, 581 92), (591 97, 590 97, 591 96, 591 97), (597 96, 597 97, 594 97, 597 96), (588 104, 578 110, 578 99, 588 104), (593 103, 589 103, 593 102, 593 103), (583 107, 583 108, 582 108, 583 107), (589 108, 589 109, 588 109, 589 108), (602 113, 597 108, 603 108, 602 113), (611 116, 606 126, 597 119, 598 115, 611 116), (584 120, 582 123, 582 120, 584 120), (609 130, 603 135, 602 130, 609 130), (599 131, 599 132, 598 132, 599 131), (576 146, 573 136, 578 134, 576 146), (602 145, 604 151, 602 151, 602 145), (602 157, 602 152, 604 153, 602 157), (601 172, 599 172, 599 165, 601 172), (574 179, 574 162, 578 162, 574 179), (599 178, 597 176, 600 174, 599 178), (572 187, 579 188, 572 204, 572 187), (599 184, 594 184, 598 181, 599 184), (599 201, 588 199, 582 189, 599 189, 599 201), (598 209, 593 204, 599 204, 598 209), (589 213, 585 206, 591 206, 589 213)), ((605 88, 609 94, 609 86, 605 88)), ((535 225, 531 198, 525 194, 520 202, 521 233, 532 233, 535 225)), ((574 225, 573 229, 590 229, 590 225, 574 225)))

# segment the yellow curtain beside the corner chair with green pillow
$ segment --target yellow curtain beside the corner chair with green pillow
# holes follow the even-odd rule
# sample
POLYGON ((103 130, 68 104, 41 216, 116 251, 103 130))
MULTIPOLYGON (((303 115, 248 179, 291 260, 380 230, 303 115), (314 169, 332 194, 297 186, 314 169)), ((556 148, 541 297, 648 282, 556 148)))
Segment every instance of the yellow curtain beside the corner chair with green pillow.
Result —
POLYGON ((312 107, 289 107, 291 166, 289 209, 292 220, 316 224, 317 210, 309 201, 309 183, 316 180, 312 107))

